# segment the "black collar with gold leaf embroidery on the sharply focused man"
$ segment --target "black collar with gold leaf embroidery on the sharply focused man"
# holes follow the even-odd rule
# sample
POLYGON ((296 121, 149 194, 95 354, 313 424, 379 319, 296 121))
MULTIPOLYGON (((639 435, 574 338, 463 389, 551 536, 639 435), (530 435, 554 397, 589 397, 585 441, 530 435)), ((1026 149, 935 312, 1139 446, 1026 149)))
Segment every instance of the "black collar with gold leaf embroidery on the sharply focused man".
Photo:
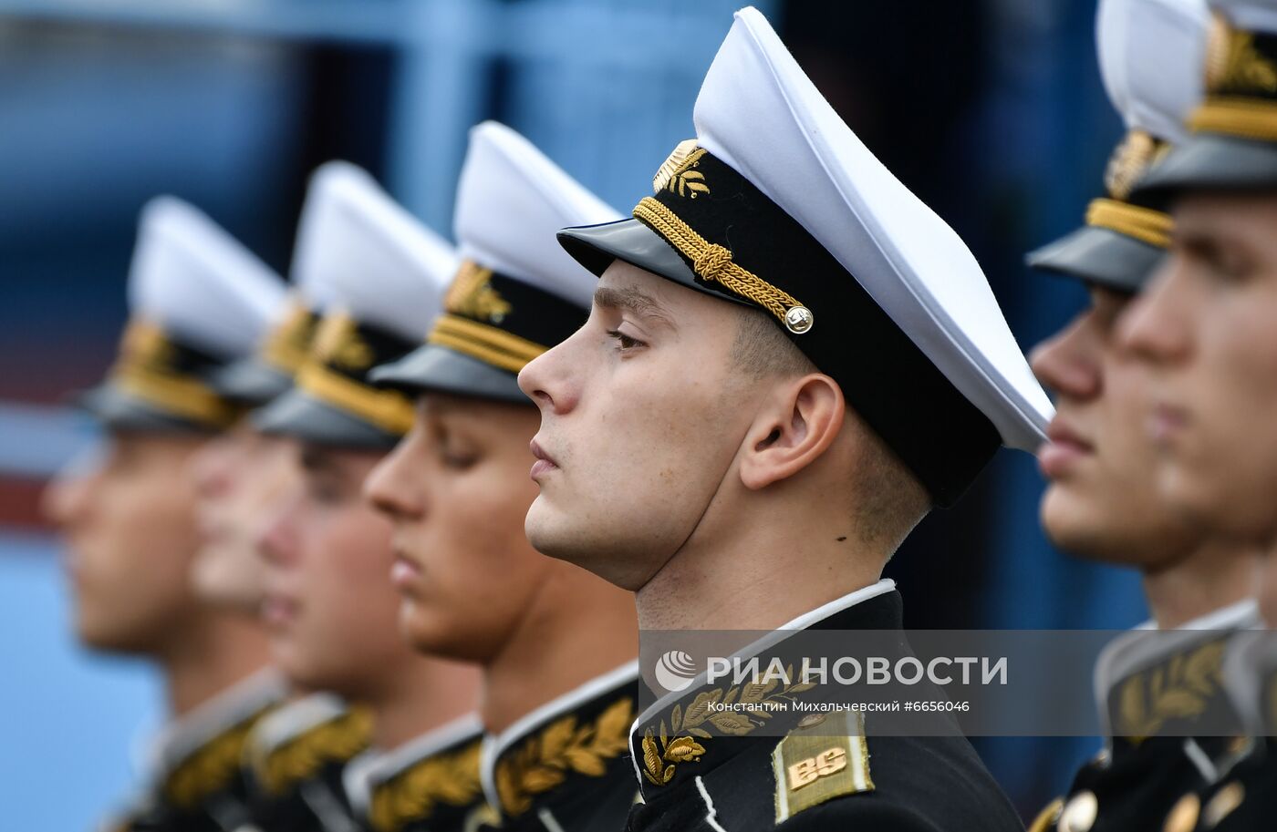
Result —
MULTIPOLYGON (((900 595, 895 582, 881 579, 843 597, 830 601, 810 613, 799 615, 776 630, 757 639, 748 647, 737 651, 734 656, 765 658, 789 638, 801 630, 889 630, 902 627, 900 595)), ((761 720, 744 713, 710 712, 710 706, 718 702, 765 702, 774 698, 793 698, 815 690, 816 685, 771 684, 771 685, 722 685, 710 689, 706 675, 697 676, 688 688, 667 694, 647 707, 630 730, 630 752, 635 766, 635 777, 646 799, 654 789, 679 782, 688 773, 704 775, 723 762, 736 757, 752 743, 727 741, 775 740, 776 726, 784 718, 794 722, 799 717, 773 716, 769 721, 766 738, 751 738, 761 720), (748 699, 752 697, 752 699, 748 699), (688 766, 688 763, 696 763, 688 766)))

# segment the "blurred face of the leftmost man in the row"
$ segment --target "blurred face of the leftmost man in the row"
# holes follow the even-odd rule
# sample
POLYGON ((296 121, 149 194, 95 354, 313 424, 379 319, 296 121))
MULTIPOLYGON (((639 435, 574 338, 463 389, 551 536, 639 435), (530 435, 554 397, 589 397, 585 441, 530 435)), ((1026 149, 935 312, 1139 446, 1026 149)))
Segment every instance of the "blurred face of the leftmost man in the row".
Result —
POLYGON ((204 440, 112 433, 101 456, 46 490, 46 514, 66 536, 75 629, 101 650, 158 655, 194 615, 198 546, 186 464, 204 440))

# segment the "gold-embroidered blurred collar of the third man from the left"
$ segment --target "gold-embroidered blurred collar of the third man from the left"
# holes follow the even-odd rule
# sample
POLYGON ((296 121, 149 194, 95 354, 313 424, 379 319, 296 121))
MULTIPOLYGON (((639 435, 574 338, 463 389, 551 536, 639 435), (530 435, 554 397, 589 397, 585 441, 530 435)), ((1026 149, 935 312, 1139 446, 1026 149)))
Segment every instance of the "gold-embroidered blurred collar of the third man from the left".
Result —
POLYGON ((481 741, 483 725, 469 713, 391 752, 352 761, 344 785, 355 815, 378 832, 393 832, 430 821, 437 812, 464 812, 483 803, 481 741))

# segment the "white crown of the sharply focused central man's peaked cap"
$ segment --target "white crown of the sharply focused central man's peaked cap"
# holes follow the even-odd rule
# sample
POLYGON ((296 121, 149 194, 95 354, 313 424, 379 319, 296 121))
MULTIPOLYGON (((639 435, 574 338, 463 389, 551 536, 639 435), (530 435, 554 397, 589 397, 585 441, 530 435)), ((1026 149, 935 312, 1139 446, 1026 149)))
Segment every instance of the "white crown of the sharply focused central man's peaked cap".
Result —
POLYGON ((736 13, 693 120, 697 143, 854 276, 1004 444, 1037 448, 1051 402, 976 258, 852 133, 757 9, 736 13))

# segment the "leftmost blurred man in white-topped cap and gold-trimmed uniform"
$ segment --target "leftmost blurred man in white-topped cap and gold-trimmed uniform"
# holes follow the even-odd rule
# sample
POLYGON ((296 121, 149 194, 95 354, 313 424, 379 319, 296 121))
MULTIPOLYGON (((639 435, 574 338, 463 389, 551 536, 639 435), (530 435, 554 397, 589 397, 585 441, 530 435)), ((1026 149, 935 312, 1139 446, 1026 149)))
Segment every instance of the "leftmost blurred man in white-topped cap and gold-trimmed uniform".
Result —
POLYGON ((155 661, 171 711, 146 787, 110 828, 232 829, 246 818, 244 739, 283 689, 264 669, 261 628, 193 592, 199 539, 186 466, 239 413, 209 378, 252 351, 282 293, 282 281, 199 211, 166 197, 148 203, 120 355, 83 397, 105 447, 45 495, 70 549, 80 641, 155 661))

